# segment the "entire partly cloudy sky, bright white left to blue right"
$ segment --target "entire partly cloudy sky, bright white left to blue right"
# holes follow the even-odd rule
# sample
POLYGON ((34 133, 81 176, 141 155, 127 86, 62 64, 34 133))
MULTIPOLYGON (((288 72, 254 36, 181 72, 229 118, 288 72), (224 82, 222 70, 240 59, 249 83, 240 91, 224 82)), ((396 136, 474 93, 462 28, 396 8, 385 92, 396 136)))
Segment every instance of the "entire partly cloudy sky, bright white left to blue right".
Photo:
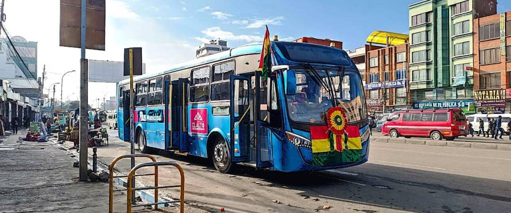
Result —
MULTIPOLYGON (((154 73, 194 59, 197 47, 209 39, 225 39, 231 48, 261 43, 265 24, 281 40, 330 38, 342 41, 343 49, 354 50, 376 30, 407 34, 408 5, 419 0, 106 1, 106 51, 87 50, 86 57, 122 61, 124 48, 141 46, 146 71, 154 73)), ((510 0, 498 2, 498 13, 511 10, 510 0)), ((80 69, 80 50, 59 46, 59 4, 5 1, 4 26, 9 33, 38 42, 38 76, 46 65, 45 85, 60 82, 68 70, 80 69)), ((79 72, 66 75, 64 101, 78 99, 78 77, 79 72)), ((60 91, 55 96, 60 97, 60 91)), ((115 96, 115 84, 89 84, 89 100, 110 96, 115 96)))

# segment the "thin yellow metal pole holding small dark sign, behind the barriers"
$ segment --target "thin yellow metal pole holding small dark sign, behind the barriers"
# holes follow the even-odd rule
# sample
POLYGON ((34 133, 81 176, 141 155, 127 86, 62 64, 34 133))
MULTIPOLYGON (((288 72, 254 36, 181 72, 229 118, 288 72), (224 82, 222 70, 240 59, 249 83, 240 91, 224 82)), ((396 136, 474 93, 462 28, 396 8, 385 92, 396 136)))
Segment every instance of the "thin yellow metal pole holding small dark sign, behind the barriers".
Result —
MULTIPOLYGON (((133 49, 129 49, 129 138, 130 138, 130 150, 131 154, 135 154, 135 126, 133 122, 133 113, 135 111, 135 107, 133 106, 133 49)), ((131 158, 131 169, 135 167, 135 158, 131 158)), ((135 177, 133 177, 133 181, 131 181, 131 187, 135 187, 135 177)), ((131 192, 131 203, 135 203, 135 191, 131 192)))

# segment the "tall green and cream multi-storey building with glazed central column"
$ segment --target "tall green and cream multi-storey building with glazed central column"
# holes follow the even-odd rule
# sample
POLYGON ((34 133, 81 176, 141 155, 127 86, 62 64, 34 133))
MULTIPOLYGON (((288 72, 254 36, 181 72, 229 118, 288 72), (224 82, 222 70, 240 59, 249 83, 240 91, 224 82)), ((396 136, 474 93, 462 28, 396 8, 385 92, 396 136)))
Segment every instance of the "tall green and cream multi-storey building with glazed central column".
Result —
POLYGON ((497 12, 496 0, 424 0, 409 5, 410 91, 414 108, 474 113, 473 20, 497 12))

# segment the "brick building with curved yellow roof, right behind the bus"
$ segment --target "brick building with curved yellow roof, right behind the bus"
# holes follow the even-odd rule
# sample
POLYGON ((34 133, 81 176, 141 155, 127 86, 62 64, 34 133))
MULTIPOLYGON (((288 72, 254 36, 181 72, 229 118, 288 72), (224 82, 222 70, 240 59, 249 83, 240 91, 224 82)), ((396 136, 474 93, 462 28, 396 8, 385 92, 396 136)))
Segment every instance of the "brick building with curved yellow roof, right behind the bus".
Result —
POLYGON ((408 35, 375 31, 367 38, 365 90, 368 111, 410 108, 408 96, 408 35), (384 44, 375 46, 373 44, 384 44))

